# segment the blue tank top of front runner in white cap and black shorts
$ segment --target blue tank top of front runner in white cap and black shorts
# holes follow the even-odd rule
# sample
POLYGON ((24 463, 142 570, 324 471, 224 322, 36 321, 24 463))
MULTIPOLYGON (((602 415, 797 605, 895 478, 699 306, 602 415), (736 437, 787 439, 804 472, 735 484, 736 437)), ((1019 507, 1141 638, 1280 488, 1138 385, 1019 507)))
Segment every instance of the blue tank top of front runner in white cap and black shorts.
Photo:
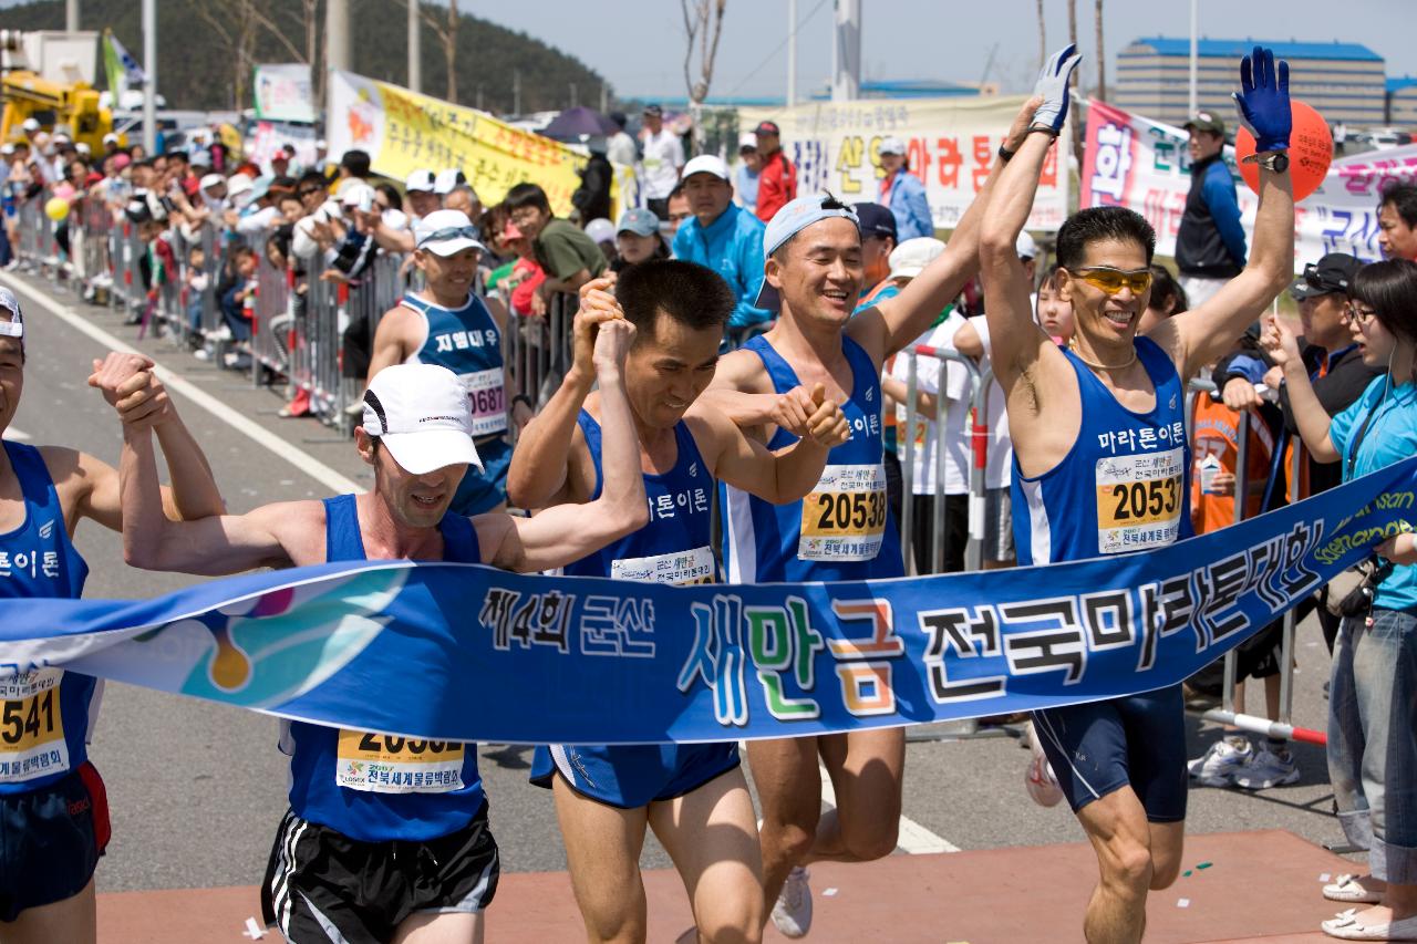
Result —
MULTIPOLYGON (((324 522, 326 560, 367 560, 353 495, 324 499, 324 522)), ((445 515, 438 530, 445 561, 482 563, 466 517, 445 515)), ((350 839, 427 842, 482 809, 476 744, 285 721, 281 750, 290 757, 290 809, 350 839)))

